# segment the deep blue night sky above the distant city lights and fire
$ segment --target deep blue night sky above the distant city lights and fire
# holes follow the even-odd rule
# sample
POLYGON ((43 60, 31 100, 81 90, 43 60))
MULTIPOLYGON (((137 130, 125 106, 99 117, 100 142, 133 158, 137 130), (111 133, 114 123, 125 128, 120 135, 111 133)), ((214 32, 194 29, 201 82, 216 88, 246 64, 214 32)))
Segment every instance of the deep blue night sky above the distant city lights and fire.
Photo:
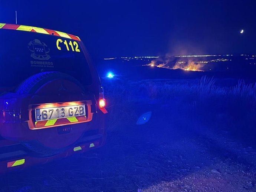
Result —
POLYGON ((17 10, 18 24, 75 34, 97 59, 256 53, 253 1, 15 1, 1 1, 1 23, 17 10))

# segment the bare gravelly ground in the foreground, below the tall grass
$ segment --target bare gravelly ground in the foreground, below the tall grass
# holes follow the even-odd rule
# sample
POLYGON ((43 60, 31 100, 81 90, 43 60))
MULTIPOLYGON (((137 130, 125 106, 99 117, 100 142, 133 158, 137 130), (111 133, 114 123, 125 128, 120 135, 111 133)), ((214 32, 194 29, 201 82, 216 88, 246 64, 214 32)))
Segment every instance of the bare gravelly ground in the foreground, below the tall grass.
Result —
POLYGON ((102 148, 1 176, 0 191, 256 191, 255 146, 221 123, 160 111, 110 133, 102 148))

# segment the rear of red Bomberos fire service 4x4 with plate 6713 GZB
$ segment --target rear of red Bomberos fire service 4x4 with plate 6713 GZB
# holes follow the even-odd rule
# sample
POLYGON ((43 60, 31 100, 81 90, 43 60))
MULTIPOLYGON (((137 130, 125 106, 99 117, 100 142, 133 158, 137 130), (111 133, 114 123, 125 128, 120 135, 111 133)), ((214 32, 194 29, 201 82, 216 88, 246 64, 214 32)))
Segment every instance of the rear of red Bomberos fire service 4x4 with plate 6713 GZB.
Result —
POLYGON ((0 172, 104 145, 104 91, 79 37, 0 23, 0 63, 0 172))

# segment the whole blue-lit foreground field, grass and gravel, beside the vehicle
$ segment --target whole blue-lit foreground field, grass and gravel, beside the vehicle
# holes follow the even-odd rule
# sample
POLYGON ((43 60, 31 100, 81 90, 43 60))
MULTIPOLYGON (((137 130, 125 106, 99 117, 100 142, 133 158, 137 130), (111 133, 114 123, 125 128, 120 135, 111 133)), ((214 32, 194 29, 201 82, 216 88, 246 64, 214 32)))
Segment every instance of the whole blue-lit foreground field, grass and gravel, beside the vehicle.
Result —
POLYGON ((255 84, 209 77, 102 83, 106 145, 1 176, 0 191, 256 191, 255 84), (136 125, 149 111, 151 119, 136 125))

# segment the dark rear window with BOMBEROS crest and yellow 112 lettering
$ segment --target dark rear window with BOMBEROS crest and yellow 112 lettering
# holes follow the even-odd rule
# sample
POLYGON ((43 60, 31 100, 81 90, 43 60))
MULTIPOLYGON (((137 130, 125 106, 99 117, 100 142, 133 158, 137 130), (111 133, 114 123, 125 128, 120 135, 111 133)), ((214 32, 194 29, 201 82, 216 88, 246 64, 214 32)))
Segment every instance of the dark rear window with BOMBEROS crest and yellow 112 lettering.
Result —
POLYGON ((82 43, 73 39, 0 29, 0 87, 14 87, 40 72, 58 71, 91 85, 82 43))

